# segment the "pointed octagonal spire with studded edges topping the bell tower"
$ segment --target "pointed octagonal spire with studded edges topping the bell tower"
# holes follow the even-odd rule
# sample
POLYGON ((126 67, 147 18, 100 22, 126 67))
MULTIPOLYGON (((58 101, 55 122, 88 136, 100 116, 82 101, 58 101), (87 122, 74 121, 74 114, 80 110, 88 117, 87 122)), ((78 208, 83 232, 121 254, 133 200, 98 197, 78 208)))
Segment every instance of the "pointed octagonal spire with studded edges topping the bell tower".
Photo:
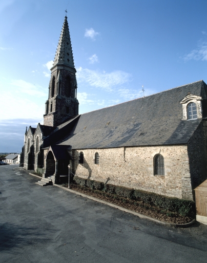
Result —
POLYGON ((55 65, 63 65, 63 64, 74 68, 73 52, 72 52, 67 16, 65 16, 63 28, 60 34, 53 67, 55 65))

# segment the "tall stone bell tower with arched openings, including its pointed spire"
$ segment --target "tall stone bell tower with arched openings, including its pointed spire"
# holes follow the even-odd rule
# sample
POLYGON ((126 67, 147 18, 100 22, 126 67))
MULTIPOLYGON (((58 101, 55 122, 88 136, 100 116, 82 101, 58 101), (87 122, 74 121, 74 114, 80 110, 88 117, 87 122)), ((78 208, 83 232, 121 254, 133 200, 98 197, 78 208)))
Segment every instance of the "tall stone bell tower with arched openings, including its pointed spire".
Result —
POLYGON ((68 20, 67 16, 65 16, 54 63, 51 68, 44 125, 56 127, 69 117, 78 115, 79 103, 77 100, 75 73, 68 20))

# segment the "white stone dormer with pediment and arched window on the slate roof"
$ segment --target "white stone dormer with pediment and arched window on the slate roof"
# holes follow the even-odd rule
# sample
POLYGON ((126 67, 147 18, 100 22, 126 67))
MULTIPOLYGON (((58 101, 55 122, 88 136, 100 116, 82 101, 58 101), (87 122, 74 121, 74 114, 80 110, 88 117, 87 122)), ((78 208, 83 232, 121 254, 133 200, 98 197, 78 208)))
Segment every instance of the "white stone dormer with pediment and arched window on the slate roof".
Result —
POLYGON ((182 104, 182 120, 202 119, 202 97, 190 92, 180 103, 182 104))

